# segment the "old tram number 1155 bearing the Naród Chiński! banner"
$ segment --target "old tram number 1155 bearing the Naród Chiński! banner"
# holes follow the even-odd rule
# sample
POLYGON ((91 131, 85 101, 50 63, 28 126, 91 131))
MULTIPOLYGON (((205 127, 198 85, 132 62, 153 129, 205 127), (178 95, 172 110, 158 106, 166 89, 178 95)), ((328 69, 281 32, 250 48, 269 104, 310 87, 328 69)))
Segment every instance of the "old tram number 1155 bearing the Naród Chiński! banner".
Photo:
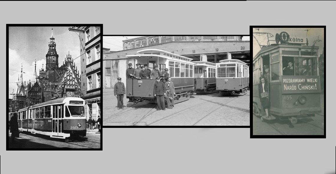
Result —
POLYGON ((262 47, 253 58, 253 113, 265 115, 258 90, 261 75, 269 86, 269 114, 295 124, 297 119, 321 113, 318 50, 316 46, 289 44, 262 47))

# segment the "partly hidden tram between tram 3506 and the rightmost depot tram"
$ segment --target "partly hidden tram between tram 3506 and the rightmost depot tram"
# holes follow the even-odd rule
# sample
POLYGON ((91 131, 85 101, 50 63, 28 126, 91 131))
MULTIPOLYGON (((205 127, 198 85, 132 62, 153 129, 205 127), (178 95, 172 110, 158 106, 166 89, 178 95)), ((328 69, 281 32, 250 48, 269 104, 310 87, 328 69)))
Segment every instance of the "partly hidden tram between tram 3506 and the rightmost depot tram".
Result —
POLYGON ((194 80, 196 93, 216 92, 216 64, 206 61, 194 61, 194 80))

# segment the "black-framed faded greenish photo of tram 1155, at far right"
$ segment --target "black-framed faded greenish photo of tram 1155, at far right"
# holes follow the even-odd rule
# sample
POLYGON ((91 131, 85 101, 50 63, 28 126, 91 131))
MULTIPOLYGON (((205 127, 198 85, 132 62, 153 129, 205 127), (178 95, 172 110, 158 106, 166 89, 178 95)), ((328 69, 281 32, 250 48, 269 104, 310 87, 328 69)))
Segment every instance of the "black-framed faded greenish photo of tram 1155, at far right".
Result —
POLYGON ((325 138, 325 26, 250 27, 251 136, 325 138))

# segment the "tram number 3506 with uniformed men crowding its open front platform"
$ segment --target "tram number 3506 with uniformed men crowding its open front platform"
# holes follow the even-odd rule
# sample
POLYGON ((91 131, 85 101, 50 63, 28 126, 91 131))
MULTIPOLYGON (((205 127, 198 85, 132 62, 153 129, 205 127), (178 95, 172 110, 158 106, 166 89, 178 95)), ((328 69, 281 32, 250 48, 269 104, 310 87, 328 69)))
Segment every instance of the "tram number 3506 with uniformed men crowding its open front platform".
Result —
MULTIPOLYGON (((154 65, 158 65, 158 69, 163 71, 168 68, 171 81, 175 86, 175 103, 179 103, 190 99, 190 95, 194 93, 194 66, 191 58, 173 54, 158 49, 140 50, 135 55, 126 55, 128 58, 134 58, 141 66, 148 64, 153 70, 154 65)), ((155 79, 126 79, 126 98, 132 99, 133 103, 143 100, 156 102, 153 89, 155 79)))

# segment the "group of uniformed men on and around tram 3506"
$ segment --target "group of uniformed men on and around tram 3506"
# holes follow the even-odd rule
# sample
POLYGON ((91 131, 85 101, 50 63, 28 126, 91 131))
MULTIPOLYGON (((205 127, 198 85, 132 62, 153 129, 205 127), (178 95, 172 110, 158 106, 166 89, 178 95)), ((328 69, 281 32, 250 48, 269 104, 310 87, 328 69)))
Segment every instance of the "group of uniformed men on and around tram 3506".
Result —
MULTIPOLYGON (((168 68, 164 71, 160 71, 158 66, 155 65, 154 69, 151 71, 148 69, 148 65, 144 64, 140 68, 140 63, 136 64, 136 69, 132 68, 132 63, 128 64, 126 70, 126 78, 136 78, 136 79, 156 79, 154 83, 154 96, 157 101, 157 110, 166 110, 165 101, 167 102, 167 108, 172 109, 174 107, 174 96, 175 96, 175 86, 169 77, 168 68)), ((114 95, 118 100, 118 110, 124 109, 124 95, 126 94, 125 85, 121 82, 121 78, 118 77, 118 82, 114 85, 114 95)), ((132 99, 129 101, 131 102, 132 99)))

